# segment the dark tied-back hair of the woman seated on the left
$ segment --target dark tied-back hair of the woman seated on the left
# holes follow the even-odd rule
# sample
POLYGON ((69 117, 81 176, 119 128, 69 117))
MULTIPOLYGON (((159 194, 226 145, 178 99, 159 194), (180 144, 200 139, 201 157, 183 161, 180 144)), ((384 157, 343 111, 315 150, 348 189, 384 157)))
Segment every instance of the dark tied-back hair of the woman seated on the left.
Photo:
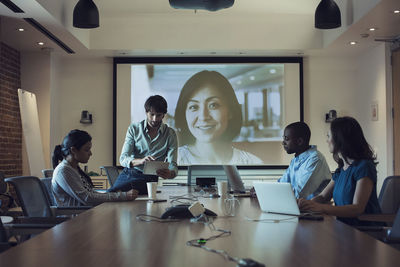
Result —
POLYGON ((92 137, 85 131, 72 130, 65 137, 61 145, 54 148, 52 162, 53 168, 57 167, 58 163, 71 154, 71 147, 81 149, 87 142, 92 141, 92 137))

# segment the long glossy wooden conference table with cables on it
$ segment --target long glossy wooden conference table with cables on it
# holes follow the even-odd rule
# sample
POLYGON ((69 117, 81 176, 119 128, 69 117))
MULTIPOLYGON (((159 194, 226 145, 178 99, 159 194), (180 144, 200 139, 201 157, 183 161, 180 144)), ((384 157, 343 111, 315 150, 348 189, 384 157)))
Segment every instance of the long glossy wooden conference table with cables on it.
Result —
MULTIPOLYGON (((213 225, 231 235, 205 246, 232 257, 251 258, 265 266, 399 266, 400 252, 367 234, 324 216, 323 221, 292 218, 256 222, 265 216, 255 198, 238 198, 235 216, 226 216, 225 200, 199 195, 191 187, 160 187, 157 198, 108 202, 61 223, 0 254, 7 267, 132 267, 132 266, 236 266, 223 256, 191 247, 187 241, 219 232, 204 223, 145 222, 139 214, 160 217, 171 197, 198 196, 218 214, 213 225)), ((181 200, 182 201, 182 200, 181 200)), ((178 204, 176 201, 173 204, 178 204)))

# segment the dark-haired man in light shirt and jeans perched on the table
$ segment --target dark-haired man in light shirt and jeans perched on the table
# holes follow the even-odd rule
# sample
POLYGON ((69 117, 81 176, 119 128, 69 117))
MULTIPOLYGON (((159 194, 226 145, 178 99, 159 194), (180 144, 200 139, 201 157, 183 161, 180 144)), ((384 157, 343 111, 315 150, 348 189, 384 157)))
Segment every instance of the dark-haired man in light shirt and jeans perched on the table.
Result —
POLYGON ((144 108, 146 119, 128 128, 119 159, 125 168, 109 192, 133 188, 139 194, 147 194, 147 182, 157 182, 158 176, 172 179, 178 173, 177 137, 175 131, 162 122, 167 113, 167 101, 154 95, 146 100, 144 108), (169 162, 168 169, 157 170, 157 175, 143 174, 144 163, 153 160, 169 162))

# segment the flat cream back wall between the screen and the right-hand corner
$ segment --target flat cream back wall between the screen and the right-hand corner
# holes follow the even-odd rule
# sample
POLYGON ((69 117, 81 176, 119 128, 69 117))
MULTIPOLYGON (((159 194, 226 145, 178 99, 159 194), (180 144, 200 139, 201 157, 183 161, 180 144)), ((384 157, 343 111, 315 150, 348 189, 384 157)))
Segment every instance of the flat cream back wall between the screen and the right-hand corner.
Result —
POLYGON ((345 57, 310 57, 304 60, 305 122, 311 129, 311 144, 318 146, 332 171, 337 164, 326 143, 329 124, 325 122, 325 114, 334 109, 338 116, 354 116, 354 61, 345 57))

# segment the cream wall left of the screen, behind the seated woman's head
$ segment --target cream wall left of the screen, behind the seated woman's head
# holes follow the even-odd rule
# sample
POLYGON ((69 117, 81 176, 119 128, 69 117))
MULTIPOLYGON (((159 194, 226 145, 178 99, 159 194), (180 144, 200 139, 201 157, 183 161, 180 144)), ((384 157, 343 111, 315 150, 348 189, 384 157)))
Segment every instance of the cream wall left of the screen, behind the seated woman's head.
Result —
POLYGON ((73 129, 92 136, 89 171, 112 162, 112 59, 59 58, 54 61, 52 87, 52 148, 73 129), (82 110, 93 115, 93 124, 79 122, 82 110))

